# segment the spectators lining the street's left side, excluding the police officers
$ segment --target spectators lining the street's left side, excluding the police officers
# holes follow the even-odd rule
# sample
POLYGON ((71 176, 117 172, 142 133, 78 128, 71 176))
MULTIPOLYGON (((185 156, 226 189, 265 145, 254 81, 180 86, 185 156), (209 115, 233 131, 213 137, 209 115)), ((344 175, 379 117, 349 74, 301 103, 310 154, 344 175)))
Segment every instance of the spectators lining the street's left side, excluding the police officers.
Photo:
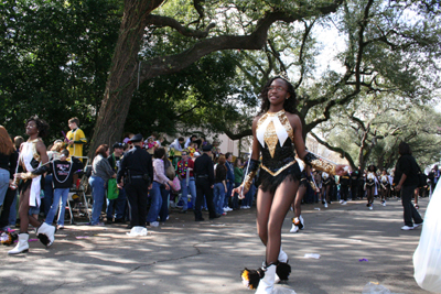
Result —
MULTIPOLYGON (((131 206, 126 189, 118 186, 117 197, 110 199, 111 185, 109 183, 112 179, 116 181, 121 160, 133 148, 130 141, 133 135, 130 134, 112 146, 99 145, 95 151, 95 156, 87 161, 87 157, 83 156, 83 146, 87 143, 87 139, 79 129, 79 120, 69 119, 68 127, 71 130, 67 134, 63 132, 64 140, 56 140, 47 146, 51 168, 42 177, 41 204, 31 207, 30 214, 49 225, 55 224, 57 229, 64 229, 68 195, 74 194, 73 190, 78 188, 83 177, 88 183, 86 193, 92 196, 90 226, 129 222, 131 206), (88 166, 86 166, 87 163, 88 166)), ((10 140, 4 128, 3 130, 6 132, 3 139, 10 140)), ((12 183, 15 182, 13 175, 18 172, 17 160, 24 139, 20 135, 13 139, 14 149, 11 154, 14 156, 8 156, 4 168, 3 166, 0 168, 0 206, 2 206, 0 230, 2 231, 8 231, 20 222, 18 218, 20 195, 12 188, 12 183), (13 194, 12 202, 3 204, 7 192, 13 194)), ((155 133, 141 142, 142 150, 153 157, 152 183, 146 195, 144 206, 148 226, 158 227, 160 222, 165 222, 169 219, 170 207, 179 209, 181 214, 186 214, 194 208, 196 203, 194 161, 203 153, 202 149, 208 145, 215 170, 213 202, 216 216, 225 216, 228 211, 251 207, 256 189, 250 190, 243 199, 239 199, 238 195, 230 196, 233 188, 240 185, 244 177, 241 159, 234 159, 232 153, 223 154, 216 141, 211 145, 205 138, 196 135, 190 135, 186 139, 176 138, 169 146, 164 146, 163 143, 163 135, 155 133)), ((206 199, 202 206, 203 209, 207 209, 206 199)), ((131 228, 132 225, 128 227, 131 228)))

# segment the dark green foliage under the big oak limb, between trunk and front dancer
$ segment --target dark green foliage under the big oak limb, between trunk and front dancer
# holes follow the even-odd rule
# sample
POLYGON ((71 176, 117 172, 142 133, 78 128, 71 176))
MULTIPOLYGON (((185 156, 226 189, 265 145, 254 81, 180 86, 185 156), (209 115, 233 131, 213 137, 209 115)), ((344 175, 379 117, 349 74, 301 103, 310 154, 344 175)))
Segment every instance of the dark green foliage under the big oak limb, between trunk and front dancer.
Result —
POLYGON ((240 120, 236 106, 256 105, 239 85, 234 58, 211 54, 179 74, 143 84, 132 98, 125 130, 143 134, 186 133, 189 128, 222 132, 240 120))

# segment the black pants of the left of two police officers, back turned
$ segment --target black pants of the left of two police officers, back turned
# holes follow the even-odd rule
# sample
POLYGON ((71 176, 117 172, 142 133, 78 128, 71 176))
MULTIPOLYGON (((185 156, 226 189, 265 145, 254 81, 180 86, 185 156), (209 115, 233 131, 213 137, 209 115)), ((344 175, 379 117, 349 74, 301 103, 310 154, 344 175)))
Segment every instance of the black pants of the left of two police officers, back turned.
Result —
POLYGON ((131 184, 126 185, 126 194, 130 204, 130 226, 146 227, 147 194, 149 187, 142 178, 132 178, 131 184))

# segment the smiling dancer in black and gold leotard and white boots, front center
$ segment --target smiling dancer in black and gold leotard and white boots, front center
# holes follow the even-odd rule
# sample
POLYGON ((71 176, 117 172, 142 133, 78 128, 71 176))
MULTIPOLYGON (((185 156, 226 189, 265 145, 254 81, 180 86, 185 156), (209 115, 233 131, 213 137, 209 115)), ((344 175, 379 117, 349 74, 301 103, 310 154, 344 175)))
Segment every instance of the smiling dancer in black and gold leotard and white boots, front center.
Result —
POLYGON ((341 174, 345 168, 318 159, 304 148, 302 123, 295 112, 294 87, 282 77, 270 79, 261 91, 260 113, 252 121, 252 154, 249 173, 234 193, 245 195, 259 167, 257 193, 257 231, 266 247, 262 268, 245 269, 243 282, 256 293, 272 293, 276 272, 287 280, 291 271, 288 255, 281 250, 283 219, 295 197, 301 170, 295 161, 294 148, 300 159, 312 167, 330 174, 341 174), (258 161, 262 156, 262 162, 258 161))

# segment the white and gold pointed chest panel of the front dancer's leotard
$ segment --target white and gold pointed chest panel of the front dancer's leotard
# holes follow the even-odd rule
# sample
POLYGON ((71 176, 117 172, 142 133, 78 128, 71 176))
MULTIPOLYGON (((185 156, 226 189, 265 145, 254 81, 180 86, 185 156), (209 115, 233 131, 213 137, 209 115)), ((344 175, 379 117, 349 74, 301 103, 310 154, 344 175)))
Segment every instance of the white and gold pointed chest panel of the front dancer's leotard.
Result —
MULTIPOLYGON (((288 137, 291 139, 291 142, 294 142, 294 131, 292 130, 291 123, 284 112, 284 109, 278 111, 278 112, 267 112, 265 113, 258 121, 257 121, 257 128, 259 129, 261 124, 267 120, 268 117, 278 117, 280 123, 283 126, 284 130, 288 133, 288 137)), ((263 141, 267 143, 269 153, 271 157, 275 157, 275 152, 276 152, 276 145, 277 142, 279 141, 279 138, 277 137, 276 132, 276 127, 275 123, 271 121, 267 129, 265 130, 263 134, 263 141)), ((263 146, 265 148, 265 146, 263 146)))

